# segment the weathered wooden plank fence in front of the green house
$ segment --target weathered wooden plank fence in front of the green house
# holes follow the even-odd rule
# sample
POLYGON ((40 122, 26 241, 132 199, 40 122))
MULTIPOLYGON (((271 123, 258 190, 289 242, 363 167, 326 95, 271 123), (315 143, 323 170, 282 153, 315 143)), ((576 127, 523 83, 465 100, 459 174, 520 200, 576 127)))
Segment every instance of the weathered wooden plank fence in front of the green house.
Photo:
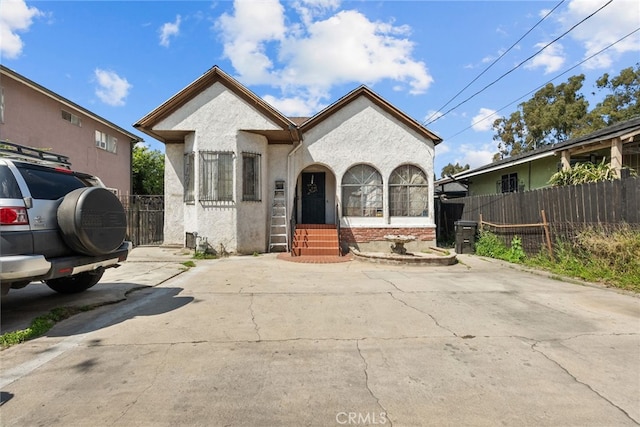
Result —
MULTIPOLYGON (((470 196, 444 201, 442 209, 450 213, 461 210, 457 219, 477 222, 482 217, 483 221, 500 225, 540 223, 544 211, 551 240, 571 240, 588 227, 612 230, 629 225, 640 229, 640 178, 470 196)), ((502 236, 507 244, 518 235, 528 253, 539 251, 545 243, 540 227, 488 228, 502 236)))

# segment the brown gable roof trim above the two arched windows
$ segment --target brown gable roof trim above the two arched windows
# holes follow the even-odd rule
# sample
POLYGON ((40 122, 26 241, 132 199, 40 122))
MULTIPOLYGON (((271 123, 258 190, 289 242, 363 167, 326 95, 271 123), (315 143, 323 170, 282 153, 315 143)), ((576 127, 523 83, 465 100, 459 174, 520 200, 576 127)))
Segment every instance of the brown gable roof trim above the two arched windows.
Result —
POLYGON ((311 117, 310 119, 302 123, 302 125, 300 125, 300 131, 303 133, 307 132, 309 129, 321 123, 326 118, 335 114, 337 111, 344 108, 347 104, 353 102, 355 99, 361 96, 368 98, 375 105, 382 108, 387 113, 391 114, 394 118, 399 120, 401 123, 403 123, 410 129, 414 130, 418 134, 432 140, 434 145, 437 145, 442 142, 442 138, 440 138, 438 135, 431 132, 426 127, 422 126, 418 121, 407 116, 405 113, 403 113, 402 111, 400 111, 399 109, 397 109, 396 107, 394 107, 393 105, 385 101, 381 96, 379 96, 378 94, 376 94, 366 86, 360 86, 359 88, 349 92, 348 94, 340 98, 338 101, 334 102, 324 110, 320 111, 315 116, 311 117))

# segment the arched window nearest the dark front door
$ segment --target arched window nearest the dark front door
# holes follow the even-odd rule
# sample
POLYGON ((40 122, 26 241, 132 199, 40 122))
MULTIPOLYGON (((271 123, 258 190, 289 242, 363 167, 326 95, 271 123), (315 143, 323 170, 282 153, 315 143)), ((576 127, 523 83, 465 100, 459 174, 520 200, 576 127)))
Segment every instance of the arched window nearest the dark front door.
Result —
POLYGON ((355 165, 342 177, 345 216, 382 216, 382 176, 369 165, 355 165))

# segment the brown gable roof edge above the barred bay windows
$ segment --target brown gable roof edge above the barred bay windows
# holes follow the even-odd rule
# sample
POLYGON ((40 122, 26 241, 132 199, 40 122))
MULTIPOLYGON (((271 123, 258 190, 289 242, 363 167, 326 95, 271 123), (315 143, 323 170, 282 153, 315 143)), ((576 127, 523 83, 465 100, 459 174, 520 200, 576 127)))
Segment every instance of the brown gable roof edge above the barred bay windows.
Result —
POLYGON ((289 120, 258 95, 251 92, 233 77, 222 71, 217 65, 210 68, 193 83, 189 84, 155 110, 138 120, 133 126, 164 143, 181 141, 184 138, 184 134, 187 133, 186 131, 154 131, 153 127, 215 83, 221 83, 224 85, 227 89, 235 93, 246 103, 255 107, 261 114, 273 121, 282 129, 280 131, 265 130, 260 133, 273 133, 275 135, 277 133, 282 133, 282 131, 289 132, 292 127, 295 127, 295 123, 293 121, 289 120))

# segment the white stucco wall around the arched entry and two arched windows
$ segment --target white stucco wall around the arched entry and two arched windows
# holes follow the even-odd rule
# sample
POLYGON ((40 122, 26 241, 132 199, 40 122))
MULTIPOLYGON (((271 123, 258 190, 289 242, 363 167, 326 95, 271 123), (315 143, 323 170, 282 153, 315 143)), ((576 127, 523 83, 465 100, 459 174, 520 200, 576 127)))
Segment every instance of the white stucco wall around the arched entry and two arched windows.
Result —
MULTIPOLYGON (((309 165, 330 166, 335 173, 335 200, 340 201, 342 176, 353 165, 365 163, 382 175, 384 216, 343 217, 347 227, 435 227, 433 203, 433 142, 409 129, 369 99, 361 97, 303 135, 303 146, 292 156, 296 179, 309 165), (389 217, 388 182, 400 165, 419 166, 429 180, 427 217, 389 217)), ((327 182, 329 184, 329 182, 327 182)), ((327 191, 329 187, 327 186, 327 191)))

